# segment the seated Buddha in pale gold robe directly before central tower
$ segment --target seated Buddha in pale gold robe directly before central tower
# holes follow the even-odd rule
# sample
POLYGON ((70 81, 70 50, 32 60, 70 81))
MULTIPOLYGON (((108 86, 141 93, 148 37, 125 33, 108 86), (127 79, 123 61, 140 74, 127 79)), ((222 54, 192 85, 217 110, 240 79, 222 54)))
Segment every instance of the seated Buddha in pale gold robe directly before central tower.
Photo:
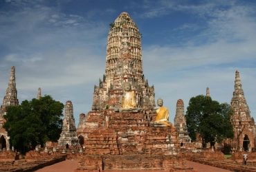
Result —
POLYGON ((141 111, 141 108, 136 107, 136 96, 134 92, 131 92, 130 83, 124 83, 122 85, 123 94, 120 96, 120 108, 115 111, 132 111, 138 112, 141 111))

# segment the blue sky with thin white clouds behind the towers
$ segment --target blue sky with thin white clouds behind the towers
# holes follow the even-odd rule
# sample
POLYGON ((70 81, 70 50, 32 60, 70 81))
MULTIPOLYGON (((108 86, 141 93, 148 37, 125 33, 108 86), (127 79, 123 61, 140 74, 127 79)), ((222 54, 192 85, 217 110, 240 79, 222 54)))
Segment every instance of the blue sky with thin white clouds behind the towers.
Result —
POLYGON ((256 118, 256 1, 0 1, 0 100, 16 67, 19 103, 42 94, 71 100, 76 124, 104 74, 109 23, 128 12, 142 38, 143 69, 173 122, 176 101, 230 103, 235 71, 256 118))

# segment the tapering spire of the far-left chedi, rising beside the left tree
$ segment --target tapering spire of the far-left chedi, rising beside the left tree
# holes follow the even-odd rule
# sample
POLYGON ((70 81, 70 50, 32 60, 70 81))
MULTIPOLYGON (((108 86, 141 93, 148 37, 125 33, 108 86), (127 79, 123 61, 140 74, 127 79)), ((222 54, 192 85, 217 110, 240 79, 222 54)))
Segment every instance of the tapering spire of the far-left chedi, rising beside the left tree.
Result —
POLYGON ((8 83, 8 88, 6 89, 6 96, 3 98, 2 109, 5 109, 8 106, 17 106, 19 105, 19 100, 17 99, 17 89, 15 83, 15 66, 12 66, 10 69, 10 78, 8 83))

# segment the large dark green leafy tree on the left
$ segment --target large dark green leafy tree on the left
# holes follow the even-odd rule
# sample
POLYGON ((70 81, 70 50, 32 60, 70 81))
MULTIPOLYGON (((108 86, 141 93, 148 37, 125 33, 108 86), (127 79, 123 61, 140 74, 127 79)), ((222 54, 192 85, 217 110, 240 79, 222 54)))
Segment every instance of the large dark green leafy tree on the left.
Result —
POLYGON ((62 132, 63 103, 45 95, 39 100, 24 100, 21 105, 6 109, 3 128, 10 136, 10 142, 19 151, 35 149, 46 140, 56 142, 62 132))

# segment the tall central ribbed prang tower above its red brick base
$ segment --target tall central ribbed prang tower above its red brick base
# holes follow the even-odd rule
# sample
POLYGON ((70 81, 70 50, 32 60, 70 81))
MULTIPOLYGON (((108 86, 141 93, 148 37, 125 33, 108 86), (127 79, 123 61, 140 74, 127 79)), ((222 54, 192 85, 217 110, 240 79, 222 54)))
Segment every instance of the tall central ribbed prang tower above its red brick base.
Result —
POLYGON ((94 86, 92 110, 120 107, 122 85, 131 84, 136 104, 143 109, 155 107, 154 86, 149 87, 143 75, 141 36, 127 12, 110 25, 107 41, 106 69, 99 86, 94 86))

